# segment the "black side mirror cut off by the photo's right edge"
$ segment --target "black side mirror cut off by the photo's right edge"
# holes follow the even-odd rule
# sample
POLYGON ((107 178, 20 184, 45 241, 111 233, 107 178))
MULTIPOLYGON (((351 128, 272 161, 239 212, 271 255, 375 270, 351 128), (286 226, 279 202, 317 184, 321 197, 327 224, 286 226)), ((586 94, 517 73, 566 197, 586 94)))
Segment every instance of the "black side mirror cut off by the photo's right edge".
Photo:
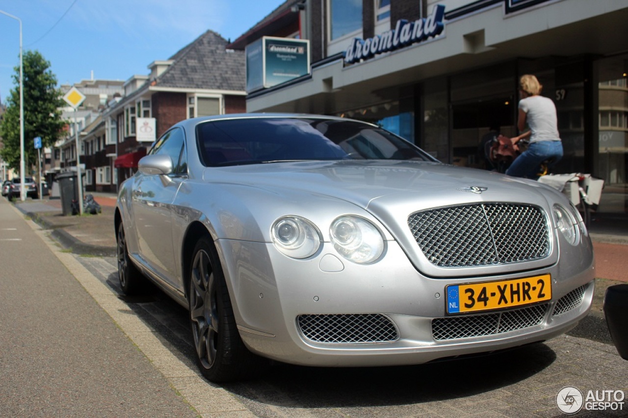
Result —
POLYGON ((628 284, 616 284, 606 289, 604 316, 617 352, 628 360, 628 284))

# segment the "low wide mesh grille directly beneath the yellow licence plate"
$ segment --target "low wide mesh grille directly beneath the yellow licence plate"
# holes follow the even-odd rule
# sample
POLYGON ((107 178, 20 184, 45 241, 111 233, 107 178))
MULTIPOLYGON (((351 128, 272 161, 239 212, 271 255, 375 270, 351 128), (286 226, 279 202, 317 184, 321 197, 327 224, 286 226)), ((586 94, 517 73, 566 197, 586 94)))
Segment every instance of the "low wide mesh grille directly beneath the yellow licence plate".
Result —
POLYGON ((544 303, 514 311, 434 318, 432 336, 442 341, 521 330, 540 324, 548 309, 549 304, 544 303))

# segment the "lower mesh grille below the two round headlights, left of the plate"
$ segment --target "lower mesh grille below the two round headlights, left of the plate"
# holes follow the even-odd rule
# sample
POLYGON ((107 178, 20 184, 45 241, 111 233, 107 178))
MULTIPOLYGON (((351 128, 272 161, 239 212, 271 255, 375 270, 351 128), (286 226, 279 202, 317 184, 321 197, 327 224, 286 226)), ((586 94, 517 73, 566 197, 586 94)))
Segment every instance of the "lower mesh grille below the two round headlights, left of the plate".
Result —
POLYGON ((393 321, 382 314, 299 315, 303 336, 317 343, 382 343, 399 333, 393 321))

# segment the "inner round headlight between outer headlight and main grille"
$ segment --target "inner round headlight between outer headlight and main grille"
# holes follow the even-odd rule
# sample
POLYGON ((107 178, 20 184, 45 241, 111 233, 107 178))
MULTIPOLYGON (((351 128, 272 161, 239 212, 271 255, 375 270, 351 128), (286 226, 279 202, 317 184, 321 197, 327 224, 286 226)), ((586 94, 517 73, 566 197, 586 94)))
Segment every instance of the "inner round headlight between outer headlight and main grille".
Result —
POLYGON ((336 218, 329 230, 333 247, 347 260, 364 264, 377 260, 384 252, 384 238, 371 222, 364 218, 336 218))

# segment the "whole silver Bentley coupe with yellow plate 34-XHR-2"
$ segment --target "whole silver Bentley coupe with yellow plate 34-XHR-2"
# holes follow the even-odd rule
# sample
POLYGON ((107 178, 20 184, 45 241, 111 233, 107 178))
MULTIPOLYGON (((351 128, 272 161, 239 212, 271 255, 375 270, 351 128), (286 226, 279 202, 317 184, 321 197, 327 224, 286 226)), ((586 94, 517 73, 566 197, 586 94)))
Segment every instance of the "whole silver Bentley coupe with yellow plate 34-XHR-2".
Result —
POLYGON ((123 291, 149 279, 185 306, 214 382, 269 360, 411 365, 544 341, 593 296, 561 193, 337 117, 182 121, 122 184, 115 227, 123 291))

